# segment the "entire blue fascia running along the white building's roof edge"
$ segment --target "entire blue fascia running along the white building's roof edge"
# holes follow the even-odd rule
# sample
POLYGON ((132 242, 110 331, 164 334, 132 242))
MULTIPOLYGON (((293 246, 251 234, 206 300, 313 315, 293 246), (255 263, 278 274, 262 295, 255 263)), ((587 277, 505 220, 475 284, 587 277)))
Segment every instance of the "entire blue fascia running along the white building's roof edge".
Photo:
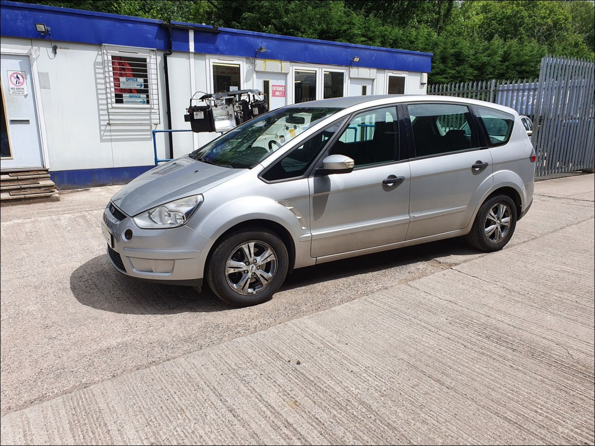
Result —
MULTIPOLYGON (((139 46, 142 48, 167 49, 167 30, 161 20, 105 14, 103 12, 57 8, 45 5, 0 1, 0 35, 24 39, 49 39, 35 30, 35 23, 45 23, 51 28, 52 40, 101 45, 139 46)), ((432 53, 380 48, 352 43, 328 42, 278 34, 256 33, 172 22, 172 24, 195 28, 195 52, 216 55, 254 57, 256 48, 264 46, 267 52, 259 58, 281 61, 304 62, 318 65, 347 67, 351 59, 361 60, 356 67, 430 72, 432 53), (201 30, 204 30, 201 32, 201 30)), ((174 51, 189 51, 188 31, 172 30, 174 51)))

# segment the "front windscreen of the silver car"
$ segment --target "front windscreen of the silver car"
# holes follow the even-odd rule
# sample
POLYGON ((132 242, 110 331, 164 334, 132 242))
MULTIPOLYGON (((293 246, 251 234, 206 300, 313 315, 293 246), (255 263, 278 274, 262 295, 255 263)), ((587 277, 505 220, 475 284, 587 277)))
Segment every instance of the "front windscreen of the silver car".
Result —
POLYGON ((233 169, 255 166, 278 148, 324 118, 341 110, 286 107, 265 113, 190 153, 193 159, 233 169))

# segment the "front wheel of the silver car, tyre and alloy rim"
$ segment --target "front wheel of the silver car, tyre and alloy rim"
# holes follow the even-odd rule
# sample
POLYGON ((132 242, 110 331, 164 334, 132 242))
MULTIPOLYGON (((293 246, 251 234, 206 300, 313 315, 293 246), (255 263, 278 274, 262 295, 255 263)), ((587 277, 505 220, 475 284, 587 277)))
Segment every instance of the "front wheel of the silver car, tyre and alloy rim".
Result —
POLYGON ((217 243, 206 281, 222 301, 234 306, 270 300, 287 276, 287 248, 267 228, 236 230, 217 243))

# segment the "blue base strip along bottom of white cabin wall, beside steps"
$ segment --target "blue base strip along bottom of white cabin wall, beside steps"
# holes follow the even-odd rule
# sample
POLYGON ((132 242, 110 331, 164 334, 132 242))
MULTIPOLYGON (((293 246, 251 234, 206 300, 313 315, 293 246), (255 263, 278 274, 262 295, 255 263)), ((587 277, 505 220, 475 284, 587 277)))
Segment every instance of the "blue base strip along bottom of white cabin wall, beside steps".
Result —
POLYGON ((105 167, 104 169, 51 170, 58 190, 127 184, 155 166, 105 167))

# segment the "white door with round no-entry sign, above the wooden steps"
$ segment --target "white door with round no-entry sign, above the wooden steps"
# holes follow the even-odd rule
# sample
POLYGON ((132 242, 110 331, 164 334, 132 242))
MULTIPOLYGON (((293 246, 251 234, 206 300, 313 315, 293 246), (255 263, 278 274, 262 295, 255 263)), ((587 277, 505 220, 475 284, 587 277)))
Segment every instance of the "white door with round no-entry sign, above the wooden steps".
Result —
POLYGON ((0 62, 1 168, 10 170, 43 167, 29 56, 2 54, 0 62))

